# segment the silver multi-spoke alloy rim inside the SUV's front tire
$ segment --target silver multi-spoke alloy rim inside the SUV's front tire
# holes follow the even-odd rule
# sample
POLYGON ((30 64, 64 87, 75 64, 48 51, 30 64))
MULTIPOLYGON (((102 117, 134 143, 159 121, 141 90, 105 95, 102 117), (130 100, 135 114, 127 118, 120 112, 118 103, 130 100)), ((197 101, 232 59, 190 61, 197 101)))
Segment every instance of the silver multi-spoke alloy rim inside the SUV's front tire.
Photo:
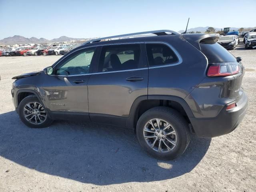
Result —
POLYGON ((38 102, 27 103, 23 108, 23 114, 31 124, 42 124, 47 118, 44 107, 38 102))

